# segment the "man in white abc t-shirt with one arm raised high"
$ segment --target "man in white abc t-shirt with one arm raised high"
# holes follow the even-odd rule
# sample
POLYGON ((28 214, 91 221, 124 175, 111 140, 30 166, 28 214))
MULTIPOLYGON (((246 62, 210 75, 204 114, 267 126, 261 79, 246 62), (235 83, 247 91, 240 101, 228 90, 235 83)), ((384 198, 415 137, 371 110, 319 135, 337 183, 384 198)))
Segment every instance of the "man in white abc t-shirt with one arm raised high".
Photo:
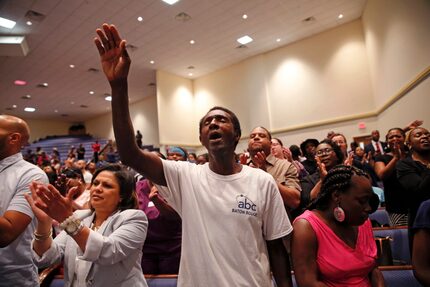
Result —
POLYGON ((130 58, 114 26, 95 39, 112 88, 115 139, 123 163, 160 186, 182 217, 178 286, 292 286, 283 238, 292 231, 271 175, 235 160, 239 121, 228 109, 212 108, 200 121, 209 163, 161 160, 135 142, 127 76, 130 58), (271 268, 270 268, 271 267, 271 268))

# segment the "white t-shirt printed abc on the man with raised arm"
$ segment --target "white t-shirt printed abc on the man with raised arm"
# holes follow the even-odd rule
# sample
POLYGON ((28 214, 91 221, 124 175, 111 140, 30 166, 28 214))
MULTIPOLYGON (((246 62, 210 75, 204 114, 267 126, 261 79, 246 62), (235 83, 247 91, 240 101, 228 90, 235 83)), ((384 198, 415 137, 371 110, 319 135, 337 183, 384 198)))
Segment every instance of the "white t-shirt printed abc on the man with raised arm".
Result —
POLYGON ((266 240, 293 229, 273 177, 248 166, 228 176, 209 164, 163 168, 159 192, 182 217, 178 286, 272 286, 266 240))

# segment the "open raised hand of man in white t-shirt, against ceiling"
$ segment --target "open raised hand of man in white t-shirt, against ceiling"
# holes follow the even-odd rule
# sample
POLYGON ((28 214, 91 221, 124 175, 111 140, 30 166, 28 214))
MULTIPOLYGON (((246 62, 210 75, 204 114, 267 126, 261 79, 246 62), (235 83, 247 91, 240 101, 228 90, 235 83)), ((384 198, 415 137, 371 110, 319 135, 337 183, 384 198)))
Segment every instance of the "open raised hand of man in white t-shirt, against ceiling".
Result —
POLYGON ((125 48, 126 41, 121 39, 114 25, 103 24, 102 29, 96 30, 99 38, 94 38, 94 43, 99 50, 103 72, 111 83, 125 80, 131 62, 125 48))

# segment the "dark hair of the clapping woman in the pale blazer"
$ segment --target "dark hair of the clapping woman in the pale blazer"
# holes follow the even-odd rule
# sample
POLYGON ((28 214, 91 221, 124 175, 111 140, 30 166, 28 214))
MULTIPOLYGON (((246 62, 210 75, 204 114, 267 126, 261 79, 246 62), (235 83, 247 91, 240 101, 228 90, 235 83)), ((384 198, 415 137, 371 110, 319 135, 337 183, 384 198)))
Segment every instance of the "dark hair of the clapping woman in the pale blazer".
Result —
POLYGON ((133 174, 120 164, 105 165, 97 169, 91 180, 91 185, 102 171, 112 172, 118 181, 119 196, 121 201, 118 205, 119 210, 136 209, 138 207, 133 174))

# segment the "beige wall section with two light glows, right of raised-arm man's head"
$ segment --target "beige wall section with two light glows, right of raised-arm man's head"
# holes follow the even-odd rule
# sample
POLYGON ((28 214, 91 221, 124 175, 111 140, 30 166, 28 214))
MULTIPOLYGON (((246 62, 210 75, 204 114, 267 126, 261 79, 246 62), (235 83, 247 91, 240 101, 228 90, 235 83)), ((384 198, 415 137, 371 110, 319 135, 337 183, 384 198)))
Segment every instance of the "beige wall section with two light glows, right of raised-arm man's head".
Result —
POLYGON ((361 21, 266 54, 271 129, 374 109, 361 21))

